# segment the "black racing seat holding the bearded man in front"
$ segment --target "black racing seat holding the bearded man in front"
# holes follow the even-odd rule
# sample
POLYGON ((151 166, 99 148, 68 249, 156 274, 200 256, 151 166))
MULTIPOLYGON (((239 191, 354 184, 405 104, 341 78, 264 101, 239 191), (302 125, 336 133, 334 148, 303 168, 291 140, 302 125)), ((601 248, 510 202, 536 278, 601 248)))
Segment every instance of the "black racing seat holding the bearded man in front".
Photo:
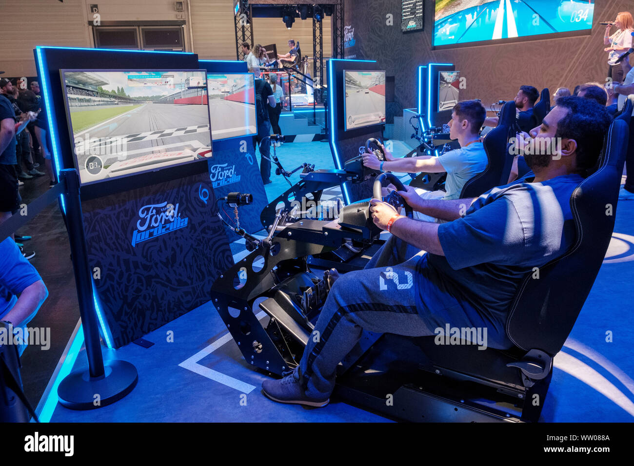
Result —
POLYGON ((579 183, 571 196, 577 232, 574 245, 543 266, 539 280, 532 278, 533 273, 522 280, 506 323, 515 346, 481 350, 469 344, 439 346, 436 337, 419 337, 414 340, 430 361, 422 368, 527 400, 521 419, 539 419, 552 377, 552 358, 564 346, 590 294, 612 237, 628 133, 623 120, 612 123, 598 170, 579 183), (612 216, 605 215, 607 204, 614 206, 612 216), (538 406, 530 402, 534 394, 540 395, 538 406))

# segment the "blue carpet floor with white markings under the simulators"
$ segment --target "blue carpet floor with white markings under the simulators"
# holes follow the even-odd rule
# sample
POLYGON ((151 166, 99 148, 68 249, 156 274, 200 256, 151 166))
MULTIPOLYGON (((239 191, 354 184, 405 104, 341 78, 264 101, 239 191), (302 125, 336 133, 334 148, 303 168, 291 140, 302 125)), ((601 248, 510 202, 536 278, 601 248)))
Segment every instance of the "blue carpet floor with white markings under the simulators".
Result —
MULTIPOLYGON (((393 152, 408 148, 394 141, 393 152)), ((278 149, 285 169, 302 162, 316 169, 332 168, 328 143, 292 143, 278 149)), ((269 200, 288 183, 273 175, 266 186, 269 200)), ((295 183, 299 174, 291 178, 295 183)), ((634 421, 634 201, 618 205, 616 228, 606 260, 581 314, 555 358, 552 383, 543 408, 544 422, 634 421)), ((235 243, 235 258, 247 254, 235 243)), ((561 283, 561 286, 570 286, 561 283)), ((261 313, 254 308, 256 314, 261 313)), ((261 318, 265 318, 262 314, 261 318)), ((321 409, 278 405, 265 398, 260 385, 266 375, 253 370, 207 303, 145 337, 148 349, 129 344, 105 350, 107 359, 124 359, 139 372, 131 394, 111 406, 72 411, 57 405, 53 422, 179 422, 179 421, 309 421, 382 422, 385 418, 343 402, 321 409), (174 342, 167 332, 174 332, 174 342)), ((86 366, 82 348, 74 368, 86 366)), ((46 419, 45 419, 46 420, 46 419)))

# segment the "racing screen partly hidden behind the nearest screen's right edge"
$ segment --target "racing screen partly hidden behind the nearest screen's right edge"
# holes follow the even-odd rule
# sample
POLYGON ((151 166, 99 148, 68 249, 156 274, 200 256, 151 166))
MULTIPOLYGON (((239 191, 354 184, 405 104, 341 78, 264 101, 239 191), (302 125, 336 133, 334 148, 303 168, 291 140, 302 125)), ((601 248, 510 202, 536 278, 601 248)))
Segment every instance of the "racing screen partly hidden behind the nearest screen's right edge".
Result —
POLYGON ((253 74, 207 74, 207 94, 214 139, 257 134, 253 74))

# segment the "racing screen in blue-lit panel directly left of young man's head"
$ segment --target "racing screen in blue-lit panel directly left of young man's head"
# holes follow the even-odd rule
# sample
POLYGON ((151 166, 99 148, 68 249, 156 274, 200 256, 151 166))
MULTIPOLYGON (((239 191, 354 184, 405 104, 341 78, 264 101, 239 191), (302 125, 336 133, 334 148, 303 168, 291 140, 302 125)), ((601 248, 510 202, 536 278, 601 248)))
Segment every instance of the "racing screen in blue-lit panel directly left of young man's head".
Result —
POLYGON ((385 72, 344 71, 346 131, 385 123, 385 72))

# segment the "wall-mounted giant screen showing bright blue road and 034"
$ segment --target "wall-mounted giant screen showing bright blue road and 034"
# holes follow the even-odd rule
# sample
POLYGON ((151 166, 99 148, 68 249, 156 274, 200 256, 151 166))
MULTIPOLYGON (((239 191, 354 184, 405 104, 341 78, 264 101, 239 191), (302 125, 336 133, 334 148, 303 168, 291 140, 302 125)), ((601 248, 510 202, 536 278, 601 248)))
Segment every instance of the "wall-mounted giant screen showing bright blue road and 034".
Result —
POLYGON ((434 46, 592 29, 594 0, 436 0, 434 46))

